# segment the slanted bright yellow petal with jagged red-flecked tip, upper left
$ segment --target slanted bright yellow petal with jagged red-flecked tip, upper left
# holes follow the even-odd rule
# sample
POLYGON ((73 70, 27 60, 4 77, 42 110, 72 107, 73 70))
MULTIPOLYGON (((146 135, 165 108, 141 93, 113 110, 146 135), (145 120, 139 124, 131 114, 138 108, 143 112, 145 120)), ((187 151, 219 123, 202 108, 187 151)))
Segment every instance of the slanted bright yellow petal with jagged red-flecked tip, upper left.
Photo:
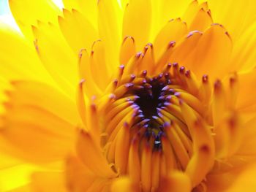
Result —
POLYGON ((32 28, 37 54, 45 68, 69 96, 74 96, 78 84, 78 57, 53 24, 39 23, 39 28, 32 28))

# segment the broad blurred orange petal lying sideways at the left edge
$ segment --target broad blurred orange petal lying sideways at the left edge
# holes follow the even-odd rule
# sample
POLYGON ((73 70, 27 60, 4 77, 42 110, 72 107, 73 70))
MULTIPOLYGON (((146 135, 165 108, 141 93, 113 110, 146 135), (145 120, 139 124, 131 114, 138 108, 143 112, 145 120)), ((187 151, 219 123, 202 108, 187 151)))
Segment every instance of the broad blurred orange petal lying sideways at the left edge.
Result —
POLYGON ((68 99, 61 99, 64 97, 54 89, 47 92, 48 86, 42 86, 40 91, 39 85, 42 84, 17 82, 14 85, 18 92, 9 93, 10 102, 5 104, 0 130, 1 145, 6 147, 6 152, 34 163, 59 160, 75 148, 76 129, 69 123, 74 120, 75 114, 69 112, 75 105, 69 105, 67 111, 68 99))

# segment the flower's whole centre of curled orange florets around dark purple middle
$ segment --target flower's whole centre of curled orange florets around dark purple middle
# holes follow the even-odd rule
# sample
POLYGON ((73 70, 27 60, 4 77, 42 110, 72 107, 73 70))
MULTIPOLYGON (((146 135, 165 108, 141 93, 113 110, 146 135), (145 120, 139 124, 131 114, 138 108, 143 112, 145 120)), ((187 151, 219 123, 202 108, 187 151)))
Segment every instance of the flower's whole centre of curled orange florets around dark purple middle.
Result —
MULTIPOLYGON (((140 169, 138 182, 148 185, 145 170, 159 172, 159 177, 173 169, 190 173, 195 166, 190 162, 198 155, 212 163, 213 141, 206 126, 211 118, 204 114, 211 95, 208 77, 199 85, 194 74, 178 64, 167 64, 153 75, 146 70, 130 74, 132 66, 127 68, 120 67, 102 120, 103 146, 113 169, 136 178, 140 169)), ((155 179, 158 174, 149 175, 155 179)), ((159 185, 155 182, 151 187, 159 185)))

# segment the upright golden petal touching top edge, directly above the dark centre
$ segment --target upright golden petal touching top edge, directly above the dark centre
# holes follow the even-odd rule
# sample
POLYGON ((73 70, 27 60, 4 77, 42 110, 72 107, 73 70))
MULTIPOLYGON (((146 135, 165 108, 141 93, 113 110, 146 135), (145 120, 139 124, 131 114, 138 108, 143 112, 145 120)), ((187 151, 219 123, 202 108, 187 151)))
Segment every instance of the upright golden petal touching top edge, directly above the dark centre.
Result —
POLYGON ((151 1, 146 0, 129 1, 124 11, 123 38, 133 37, 137 50, 142 50, 148 43, 151 33, 151 11, 151 1))

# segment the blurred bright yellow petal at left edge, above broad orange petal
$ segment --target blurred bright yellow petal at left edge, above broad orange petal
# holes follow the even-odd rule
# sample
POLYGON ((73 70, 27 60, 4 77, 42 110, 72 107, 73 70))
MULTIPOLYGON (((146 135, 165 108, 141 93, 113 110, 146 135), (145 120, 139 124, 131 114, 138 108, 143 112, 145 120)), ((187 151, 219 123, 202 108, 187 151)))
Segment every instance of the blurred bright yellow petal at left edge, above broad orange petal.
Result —
POLYGON ((22 78, 53 83, 37 58, 34 46, 29 45, 21 34, 1 25, 0 41, 1 77, 7 80, 22 78))

